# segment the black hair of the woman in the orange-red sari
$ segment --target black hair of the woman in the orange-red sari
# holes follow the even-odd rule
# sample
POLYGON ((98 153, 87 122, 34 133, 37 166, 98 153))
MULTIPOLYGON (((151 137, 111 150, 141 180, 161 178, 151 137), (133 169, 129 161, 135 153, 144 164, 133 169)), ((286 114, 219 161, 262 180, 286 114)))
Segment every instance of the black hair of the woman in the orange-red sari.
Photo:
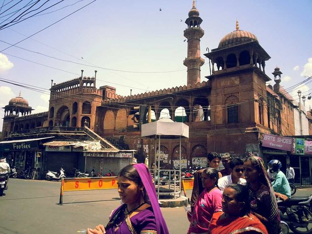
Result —
POLYGON ((247 186, 238 183, 231 183, 226 188, 233 188, 235 190, 235 199, 238 202, 245 202, 243 209, 240 212, 240 216, 244 216, 250 213, 250 196, 247 186))

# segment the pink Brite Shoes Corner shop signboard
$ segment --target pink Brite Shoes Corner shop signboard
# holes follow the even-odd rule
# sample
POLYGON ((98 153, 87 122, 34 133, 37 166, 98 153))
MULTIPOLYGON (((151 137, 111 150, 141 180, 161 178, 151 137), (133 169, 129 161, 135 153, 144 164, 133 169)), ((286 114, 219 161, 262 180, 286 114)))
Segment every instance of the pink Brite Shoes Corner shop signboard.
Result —
POLYGON ((264 134, 262 140, 262 147, 292 151, 294 142, 295 139, 291 137, 264 134))

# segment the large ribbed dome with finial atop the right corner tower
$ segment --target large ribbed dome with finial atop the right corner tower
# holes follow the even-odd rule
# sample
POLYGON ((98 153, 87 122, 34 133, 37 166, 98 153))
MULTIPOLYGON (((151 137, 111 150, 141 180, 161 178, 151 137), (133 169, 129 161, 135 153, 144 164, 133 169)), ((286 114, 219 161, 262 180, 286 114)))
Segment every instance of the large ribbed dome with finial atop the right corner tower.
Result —
POLYGON ((230 32, 225 35, 219 42, 218 48, 230 47, 232 44, 237 45, 240 44, 240 42, 248 41, 250 39, 252 41, 258 41, 257 37, 254 34, 244 30, 240 30, 238 20, 236 20, 236 31, 230 32))

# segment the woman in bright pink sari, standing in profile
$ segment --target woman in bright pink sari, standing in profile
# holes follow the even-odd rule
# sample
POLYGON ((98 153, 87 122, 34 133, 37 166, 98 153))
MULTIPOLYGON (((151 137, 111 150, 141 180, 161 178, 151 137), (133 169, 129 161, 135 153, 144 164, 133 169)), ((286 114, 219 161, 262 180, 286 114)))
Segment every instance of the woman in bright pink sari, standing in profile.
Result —
POLYGON ((222 192, 218 188, 218 171, 206 168, 201 174, 204 190, 200 193, 191 213, 187 234, 207 233, 213 213, 222 211, 222 192))

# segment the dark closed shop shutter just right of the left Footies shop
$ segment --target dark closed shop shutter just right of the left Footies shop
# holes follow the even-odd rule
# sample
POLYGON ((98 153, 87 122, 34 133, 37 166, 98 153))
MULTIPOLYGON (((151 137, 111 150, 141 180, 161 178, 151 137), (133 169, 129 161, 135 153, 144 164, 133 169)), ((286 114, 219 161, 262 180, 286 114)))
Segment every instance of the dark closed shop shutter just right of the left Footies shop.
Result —
POLYGON ((65 174, 72 174, 72 170, 77 165, 76 152, 48 152, 47 170, 58 172, 62 167, 65 174))

